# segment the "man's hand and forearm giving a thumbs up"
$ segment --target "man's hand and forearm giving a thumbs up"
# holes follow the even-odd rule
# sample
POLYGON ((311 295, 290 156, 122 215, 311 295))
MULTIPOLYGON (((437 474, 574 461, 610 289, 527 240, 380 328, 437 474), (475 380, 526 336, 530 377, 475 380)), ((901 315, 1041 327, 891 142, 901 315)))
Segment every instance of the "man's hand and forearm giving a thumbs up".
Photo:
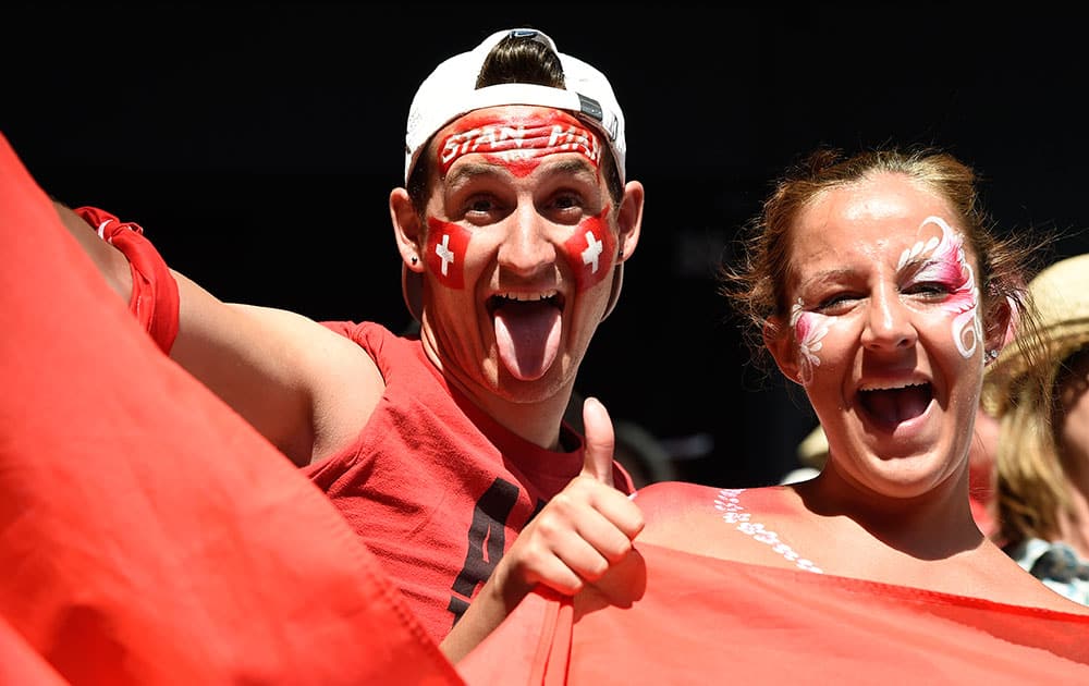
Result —
POLYGON ((503 555, 488 583, 442 641, 452 661, 464 657, 537 584, 574 596, 634 550, 643 512, 613 486, 612 420, 595 397, 583 404, 583 471, 541 509, 503 555))

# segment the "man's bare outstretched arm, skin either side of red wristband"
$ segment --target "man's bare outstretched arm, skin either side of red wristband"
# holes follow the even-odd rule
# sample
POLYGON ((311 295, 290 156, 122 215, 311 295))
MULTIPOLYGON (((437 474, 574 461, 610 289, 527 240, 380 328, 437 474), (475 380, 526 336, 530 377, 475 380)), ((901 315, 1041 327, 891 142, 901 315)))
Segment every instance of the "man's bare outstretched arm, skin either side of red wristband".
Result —
MULTIPOLYGON (((125 256, 75 211, 54 203, 64 225, 129 302, 125 256)), ((178 284, 178 335, 170 356, 249 421, 296 465, 354 438, 384 391, 355 343, 286 310, 228 304, 185 275, 178 284)))

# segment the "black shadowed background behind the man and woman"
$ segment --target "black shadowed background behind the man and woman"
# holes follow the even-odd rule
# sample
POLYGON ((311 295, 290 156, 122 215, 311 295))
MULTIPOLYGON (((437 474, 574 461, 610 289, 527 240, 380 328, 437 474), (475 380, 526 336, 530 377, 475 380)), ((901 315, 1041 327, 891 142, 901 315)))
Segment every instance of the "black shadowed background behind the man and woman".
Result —
MULTIPOLYGON (((680 475, 778 480, 813 424, 746 364, 714 266, 773 176, 818 144, 934 144, 1006 231, 1089 250, 1086 29, 1042 3, 73 3, 0 10, 0 128, 54 196, 142 223, 224 299, 401 328, 387 210, 404 120, 441 59, 544 29, 611 78, 647 187, 623 297, 583 392, 680 475)), ((2 248, 0 248, 2 249, 2 248)))

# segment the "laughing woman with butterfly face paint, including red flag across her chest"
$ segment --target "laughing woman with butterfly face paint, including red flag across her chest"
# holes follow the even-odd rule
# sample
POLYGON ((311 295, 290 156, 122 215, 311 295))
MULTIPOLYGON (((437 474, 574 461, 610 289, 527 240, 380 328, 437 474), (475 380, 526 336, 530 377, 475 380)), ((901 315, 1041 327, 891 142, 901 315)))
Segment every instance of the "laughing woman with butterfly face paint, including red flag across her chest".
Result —
POLYGON ((1031 246, 995 234, 972 170, 934 150, 818 150, 748 229, 722 292, 806 392, 824 468, 766 488, 640 489, 646 527, 625 563, 574 599, 524 601, 463 673, 1089 683, 1089 609, 1020 568, 969 506, 983 370, 1024 309, 1031 246))

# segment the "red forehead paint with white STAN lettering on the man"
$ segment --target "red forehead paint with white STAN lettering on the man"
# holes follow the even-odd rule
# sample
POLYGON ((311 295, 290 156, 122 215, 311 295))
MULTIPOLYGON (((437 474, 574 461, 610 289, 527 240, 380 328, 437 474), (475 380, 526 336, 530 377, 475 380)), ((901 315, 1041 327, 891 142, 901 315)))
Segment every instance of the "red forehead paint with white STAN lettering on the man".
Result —
POLYGON ((529 115, 497 117, 494 112, 469 113, 439 146, 442 173, 463 155, 480 154, 519 176, 533 171, 546 155, 578 152, 597 168, 601 143, 572 114, 562 110, 536 111, 529 115))

